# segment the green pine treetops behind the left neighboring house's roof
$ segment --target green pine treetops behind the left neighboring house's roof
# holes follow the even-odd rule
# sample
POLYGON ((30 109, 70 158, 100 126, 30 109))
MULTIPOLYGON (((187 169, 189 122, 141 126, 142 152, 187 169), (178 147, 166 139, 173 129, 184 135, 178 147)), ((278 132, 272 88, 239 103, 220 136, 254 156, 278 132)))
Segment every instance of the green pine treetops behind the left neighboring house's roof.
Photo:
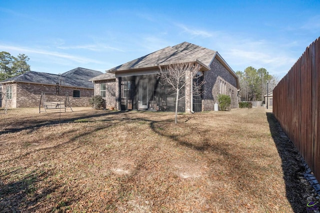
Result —
POLYGON ((0 52, 0 81, 30 71, 28 60, 25 54, 14 57, 8 52, 0 52))

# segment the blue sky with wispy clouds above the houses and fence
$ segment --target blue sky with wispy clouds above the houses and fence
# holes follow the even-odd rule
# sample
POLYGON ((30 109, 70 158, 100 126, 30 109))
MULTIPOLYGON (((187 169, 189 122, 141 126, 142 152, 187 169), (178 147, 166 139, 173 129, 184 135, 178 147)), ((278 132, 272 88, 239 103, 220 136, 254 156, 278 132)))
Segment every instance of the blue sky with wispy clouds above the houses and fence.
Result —
POLYGON ((320 36, 320 1, 0 0, 0 32, 0 51, 38 72, 104 72, 187 41, 282 78, 320 36))

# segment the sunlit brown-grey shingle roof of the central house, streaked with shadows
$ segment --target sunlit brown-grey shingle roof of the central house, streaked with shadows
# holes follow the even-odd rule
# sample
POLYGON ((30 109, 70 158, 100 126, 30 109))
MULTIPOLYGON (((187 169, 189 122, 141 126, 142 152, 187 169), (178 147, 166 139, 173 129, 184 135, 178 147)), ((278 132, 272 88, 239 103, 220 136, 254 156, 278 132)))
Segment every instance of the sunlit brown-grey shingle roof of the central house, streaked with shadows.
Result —
POLYGON ((173 47, 165 47, 135 60, 116 66, 109 72, 139 69, 145 67, 155 67, 158 64, 172 63, 183 60, 198 60, 205 66, 209 66, 216 51, 210 50, 188 42, 182 42, 173 47))

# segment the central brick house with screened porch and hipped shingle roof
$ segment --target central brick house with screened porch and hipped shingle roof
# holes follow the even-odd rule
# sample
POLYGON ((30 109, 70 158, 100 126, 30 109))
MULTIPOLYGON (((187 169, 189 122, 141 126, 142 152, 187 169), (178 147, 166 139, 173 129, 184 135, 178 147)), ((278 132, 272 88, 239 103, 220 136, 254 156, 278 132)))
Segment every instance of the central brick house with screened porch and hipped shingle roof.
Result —
MULTIPOLYGON (((238 107, 238 77, 216 51, 183 42, 168 46, 143 57, 129 61, 110 70, 115 79, 103 74, 94 77, 95 94, 104 95, 101 88, 114 88, 106 101, 110 100, 118 110, 160 110, 174 111, 175 95, 168 85, 159 82, 159 66, 181 62, 195 62, 202 66, 198 79, 204 81, 202 91, 191 92, 191 83, 182 91, 184 98, 179 100, 178 109, 182 112, 207 111, 214 109, 218 94, 231 97, 231 108, 238 107)), ((105 89, 107 91, 107 89, 105 89)), ((105 92, 106 93, 106 92, 105 92)))

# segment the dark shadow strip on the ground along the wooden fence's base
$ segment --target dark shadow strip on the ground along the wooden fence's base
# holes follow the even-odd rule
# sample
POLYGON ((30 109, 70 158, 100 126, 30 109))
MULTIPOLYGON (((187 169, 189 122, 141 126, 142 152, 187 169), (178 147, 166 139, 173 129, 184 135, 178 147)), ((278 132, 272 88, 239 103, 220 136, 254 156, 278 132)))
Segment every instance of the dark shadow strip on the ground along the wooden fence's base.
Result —
POLYGON ((282 160, 283 179, 287 200, 294 213, 306 212, 307 200, 303 195, 311 195, 312 188, 301 182, 304 166, 299 152, 282 131, 273 113, 266 113, 271 136, 282 160))

